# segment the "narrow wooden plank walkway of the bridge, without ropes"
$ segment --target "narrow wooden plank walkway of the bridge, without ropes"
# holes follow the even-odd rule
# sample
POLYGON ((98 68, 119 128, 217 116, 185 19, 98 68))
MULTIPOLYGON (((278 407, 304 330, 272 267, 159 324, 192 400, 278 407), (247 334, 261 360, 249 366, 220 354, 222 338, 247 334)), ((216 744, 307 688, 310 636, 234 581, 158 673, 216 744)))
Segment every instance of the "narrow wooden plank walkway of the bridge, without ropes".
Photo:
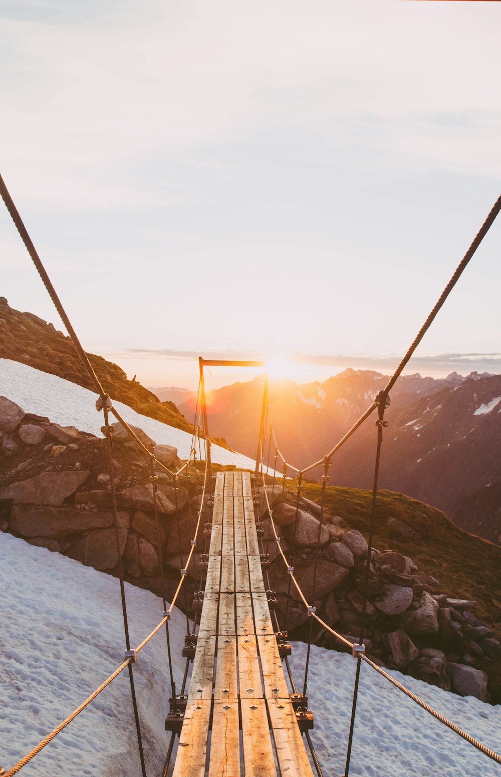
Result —
POLYGON ((174 777, 312 777, 274 631, 250 476, 220 472, 174 777))

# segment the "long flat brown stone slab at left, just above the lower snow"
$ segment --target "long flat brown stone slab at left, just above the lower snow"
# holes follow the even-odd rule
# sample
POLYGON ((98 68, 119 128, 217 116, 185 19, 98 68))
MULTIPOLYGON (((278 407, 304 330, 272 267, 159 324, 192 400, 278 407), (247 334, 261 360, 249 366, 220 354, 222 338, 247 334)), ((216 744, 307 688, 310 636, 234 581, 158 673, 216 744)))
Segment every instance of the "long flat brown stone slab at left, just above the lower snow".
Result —
POLYGON ((9 518, 9 531, 21 537, 52 537, 61 539, 89 529, 106 528, 113 524, 111 513, 92 513, 71 507, 39 507, 16 504, 9 518))

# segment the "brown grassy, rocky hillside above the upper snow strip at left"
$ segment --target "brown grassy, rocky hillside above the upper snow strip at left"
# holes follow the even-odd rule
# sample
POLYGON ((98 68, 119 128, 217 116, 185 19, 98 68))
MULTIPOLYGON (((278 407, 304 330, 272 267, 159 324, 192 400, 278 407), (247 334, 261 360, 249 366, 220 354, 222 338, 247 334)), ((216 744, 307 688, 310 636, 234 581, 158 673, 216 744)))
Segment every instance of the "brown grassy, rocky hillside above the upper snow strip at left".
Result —
MULTIPOLYGON (((127 375, 117 364, 96 354, 87 355, 96 375, 113 399, 124 402, 144 416, 169 423, 176 429, 191 431, 191 423, 172 402, 160 402, 141 383, 127 380, 127 375)), ((5 297, 0 297, 0 357, 29 364, 37 370, 82 385, 85 389, 94 388, 69 337, 37 315, 9 307, 5 297)))

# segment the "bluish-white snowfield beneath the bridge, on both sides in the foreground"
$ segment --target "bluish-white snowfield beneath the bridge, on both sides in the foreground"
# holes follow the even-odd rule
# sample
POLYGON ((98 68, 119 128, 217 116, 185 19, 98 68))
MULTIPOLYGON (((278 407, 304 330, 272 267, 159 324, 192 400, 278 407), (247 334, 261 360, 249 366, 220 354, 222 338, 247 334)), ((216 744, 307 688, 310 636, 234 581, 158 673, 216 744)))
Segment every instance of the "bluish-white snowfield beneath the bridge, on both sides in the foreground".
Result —
MULTIPOLYGON (((118 581, 71 559, 0 533, 0 765, 12 767, 105 679, 124 653, 118 581)), ((127 585, 131 639, 162 617, 162 602, 127 585)), ((172 619, 175 679, 183 674, 185 627, 172 619)), ((343 774, 355 663, 313 646, 308 680, 312 738, 325 777, 343 774)), ((159 632, 134 666, 148 775, 161 773, 169 735, 169 671, 159 632)), ((305 646, 292 667, 301 680, 305 646)), ((501 751, 501 707, 400 681, 485 744, 501 751)), ((370 667, 362 668, 350 774, 353 777, 496 777, 499 766, 434 720, 370 667)), ((121 777, 140 773, 127 672, 23 769, 23 775, 121 777)))

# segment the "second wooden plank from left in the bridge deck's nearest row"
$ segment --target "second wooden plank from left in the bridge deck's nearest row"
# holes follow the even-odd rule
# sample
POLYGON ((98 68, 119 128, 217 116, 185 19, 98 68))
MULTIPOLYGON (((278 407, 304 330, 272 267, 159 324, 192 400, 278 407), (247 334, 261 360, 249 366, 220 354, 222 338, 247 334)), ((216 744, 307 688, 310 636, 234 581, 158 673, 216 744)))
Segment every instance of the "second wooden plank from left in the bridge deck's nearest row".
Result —
POLYGON ((209 777, 240 777, 238 700, 214 702, 209 777))

